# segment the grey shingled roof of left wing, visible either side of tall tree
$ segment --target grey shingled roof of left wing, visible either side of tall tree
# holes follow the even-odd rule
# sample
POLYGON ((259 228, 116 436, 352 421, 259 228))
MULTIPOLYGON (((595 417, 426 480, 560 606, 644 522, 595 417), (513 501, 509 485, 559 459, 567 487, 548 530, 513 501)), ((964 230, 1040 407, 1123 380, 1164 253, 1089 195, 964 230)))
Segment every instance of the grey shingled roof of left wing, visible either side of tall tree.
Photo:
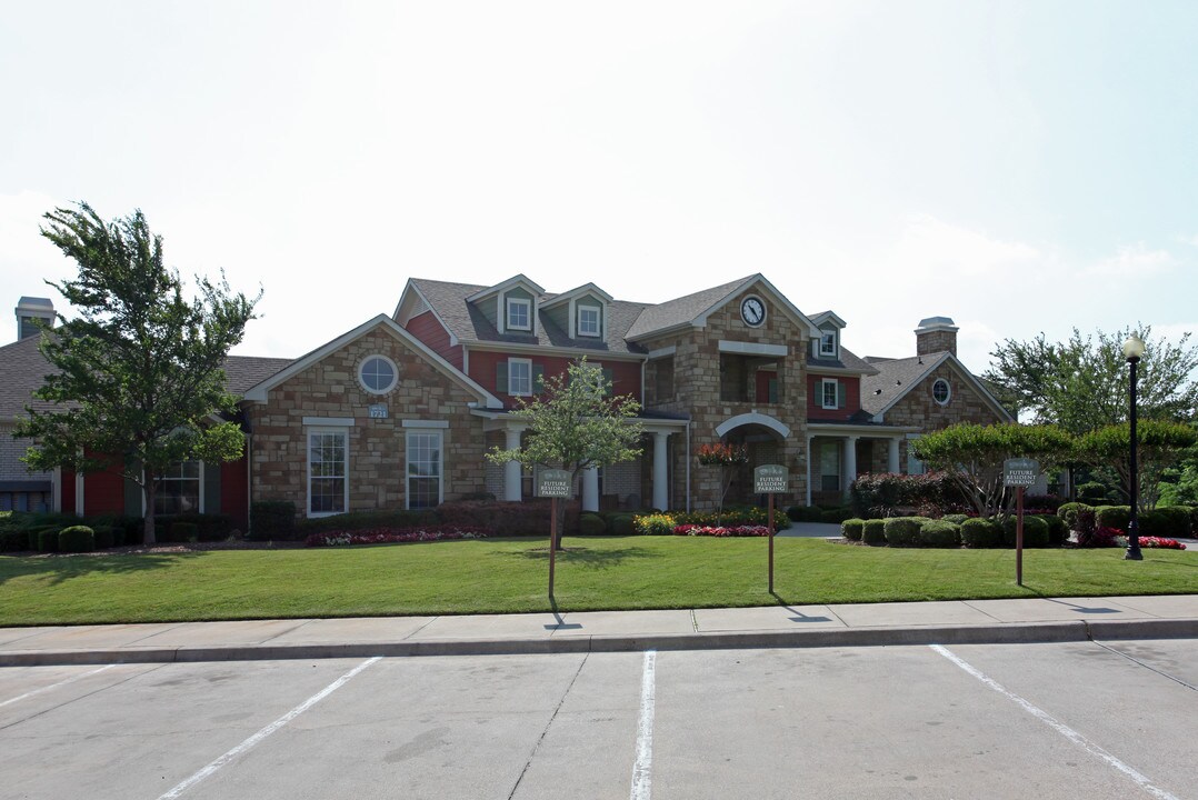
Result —
MULTIPOLYGON (((37 411, 53 411, 56 405, 34 400, 34 390, 42 386, 53 370, 37 349, 41 337, 30 337, 0 347, 0 423, 24 416, 25 406, 37 411)), ((225 371, 225 389, 231 394, 244 394, 255 383, 284 369, 290 358, 259 358, 254 356, 228 356, 222 366, 225 371)))

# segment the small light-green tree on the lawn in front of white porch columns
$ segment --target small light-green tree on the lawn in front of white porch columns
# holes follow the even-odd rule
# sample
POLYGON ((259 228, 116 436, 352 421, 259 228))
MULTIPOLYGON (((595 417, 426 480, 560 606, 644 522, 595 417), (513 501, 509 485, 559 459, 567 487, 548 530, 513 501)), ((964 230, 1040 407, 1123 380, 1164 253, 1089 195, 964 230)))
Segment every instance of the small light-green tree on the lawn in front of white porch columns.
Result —
MULTIPOLYGON (((571 363, 564 375, 545 380, 532 402, 521 401, 512 411, 513 418, 528 423, 524 447, 494 448, 486 457, 494 463, 519 461, 527 469, 565 469, 571 485, 583 469, 631 461, 641 454, 641 406, 630 395, 611 396, 611 388, 603 370, 585 357, 571 363)), ((555 546, 561 546, 562 526, 557 529, 555 546)))

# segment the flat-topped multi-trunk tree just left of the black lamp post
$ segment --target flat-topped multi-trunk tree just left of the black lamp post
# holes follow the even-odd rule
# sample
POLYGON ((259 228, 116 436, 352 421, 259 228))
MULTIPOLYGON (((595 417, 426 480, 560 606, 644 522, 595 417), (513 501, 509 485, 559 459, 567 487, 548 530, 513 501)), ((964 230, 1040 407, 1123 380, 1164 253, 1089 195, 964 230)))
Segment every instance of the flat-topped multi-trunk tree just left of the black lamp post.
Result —
POLYGON ((1053 425, 951 425, 912 442, 915 456, 945 472, 981 516, 1010 511, 1008 459, 1034 459, 1046 472, 1072 457, 1073 437, 1053 425))

